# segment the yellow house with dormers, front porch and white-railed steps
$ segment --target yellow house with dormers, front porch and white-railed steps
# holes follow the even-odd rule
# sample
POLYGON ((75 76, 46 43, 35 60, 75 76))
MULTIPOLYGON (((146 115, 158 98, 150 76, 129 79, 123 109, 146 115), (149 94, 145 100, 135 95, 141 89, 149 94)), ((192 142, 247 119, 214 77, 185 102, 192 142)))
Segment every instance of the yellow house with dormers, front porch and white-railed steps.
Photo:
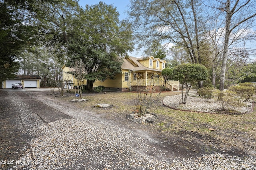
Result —
MULTIPOLYGON (((115 79, 106 79, 104 82, 95 80, 93 86, 105 86, 106 91, 136 91, 137 87, 149 87, 154 86, 155 90, 160 90, 161 87, 166 86, 170 90, 179 90, 178 81, 169 81, 166 84, 162 78, 162 70, 165 68, 165 60, 159 58, 146 57, 126 57, 124 63, 121 66, 121 73, 116 74, 115 79)), ((77 85, 77 80, 71 74, 67 72, 72 71, 72 68, 62 66, 63 81, 67 83, 73 83, 77 85)), ((86 80, 84 81, 86 84, 86 80)), ((67 86, 66 86, 67 87, 67 86)), ((70 87, 72 88, 72 87, 70 87)))

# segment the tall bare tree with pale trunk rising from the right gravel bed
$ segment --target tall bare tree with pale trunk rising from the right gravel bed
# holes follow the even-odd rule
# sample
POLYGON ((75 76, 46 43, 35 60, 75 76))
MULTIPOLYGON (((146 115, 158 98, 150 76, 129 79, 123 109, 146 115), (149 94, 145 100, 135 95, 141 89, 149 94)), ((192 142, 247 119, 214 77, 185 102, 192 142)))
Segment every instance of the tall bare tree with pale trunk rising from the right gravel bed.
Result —
POLYGON ((222 65, 220 72, 220 90, 224 90, 226 65, 232 45, 246 46, 246 41, 256 37, 256 12, 254 0, 214 0, 206 6, 214 10, 213 17, 223 26, 224 44, 222 49, 222 65))

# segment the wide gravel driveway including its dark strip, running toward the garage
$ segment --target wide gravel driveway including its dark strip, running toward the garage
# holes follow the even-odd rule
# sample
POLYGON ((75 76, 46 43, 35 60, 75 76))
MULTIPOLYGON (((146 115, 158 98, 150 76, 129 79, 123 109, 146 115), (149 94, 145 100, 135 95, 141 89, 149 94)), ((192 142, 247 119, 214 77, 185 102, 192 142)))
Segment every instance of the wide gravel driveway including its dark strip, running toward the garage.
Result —
POLYGON ((256 169, 254 157, 182 157, 151 133, 49 99, 0 91, 0 169, 256 169))

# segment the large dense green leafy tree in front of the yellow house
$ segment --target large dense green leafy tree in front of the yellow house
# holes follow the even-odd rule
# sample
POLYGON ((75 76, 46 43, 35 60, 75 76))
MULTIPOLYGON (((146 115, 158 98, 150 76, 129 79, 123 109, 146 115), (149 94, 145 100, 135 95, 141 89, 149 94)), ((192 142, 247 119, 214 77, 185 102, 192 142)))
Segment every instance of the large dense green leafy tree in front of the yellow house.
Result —
POLYGON ((132 29, 127 21, 119 21, 119 13, 104 2, 86 6, 80 11, 76 29, 68 41, 70 63, 82 59, 88 65, 87 89, 94 80, 104 81, 120 73, 122 57, 132 51, 132 29))

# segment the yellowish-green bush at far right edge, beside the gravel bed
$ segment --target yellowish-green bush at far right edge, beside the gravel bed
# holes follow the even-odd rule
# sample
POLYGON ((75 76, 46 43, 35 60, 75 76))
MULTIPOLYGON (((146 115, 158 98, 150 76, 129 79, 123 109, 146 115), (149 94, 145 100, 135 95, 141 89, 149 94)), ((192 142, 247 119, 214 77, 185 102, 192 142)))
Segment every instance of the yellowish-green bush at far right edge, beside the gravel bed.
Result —
POLYGON ((235 98, 240 104, 242 102, 248 102, 248 100, 250 100, 252 96, 255 94, 254 87, 247 85, 248 84, 246 84, 246 86, 232 86, 229 88, 229 90, 235 93, 235 98))

